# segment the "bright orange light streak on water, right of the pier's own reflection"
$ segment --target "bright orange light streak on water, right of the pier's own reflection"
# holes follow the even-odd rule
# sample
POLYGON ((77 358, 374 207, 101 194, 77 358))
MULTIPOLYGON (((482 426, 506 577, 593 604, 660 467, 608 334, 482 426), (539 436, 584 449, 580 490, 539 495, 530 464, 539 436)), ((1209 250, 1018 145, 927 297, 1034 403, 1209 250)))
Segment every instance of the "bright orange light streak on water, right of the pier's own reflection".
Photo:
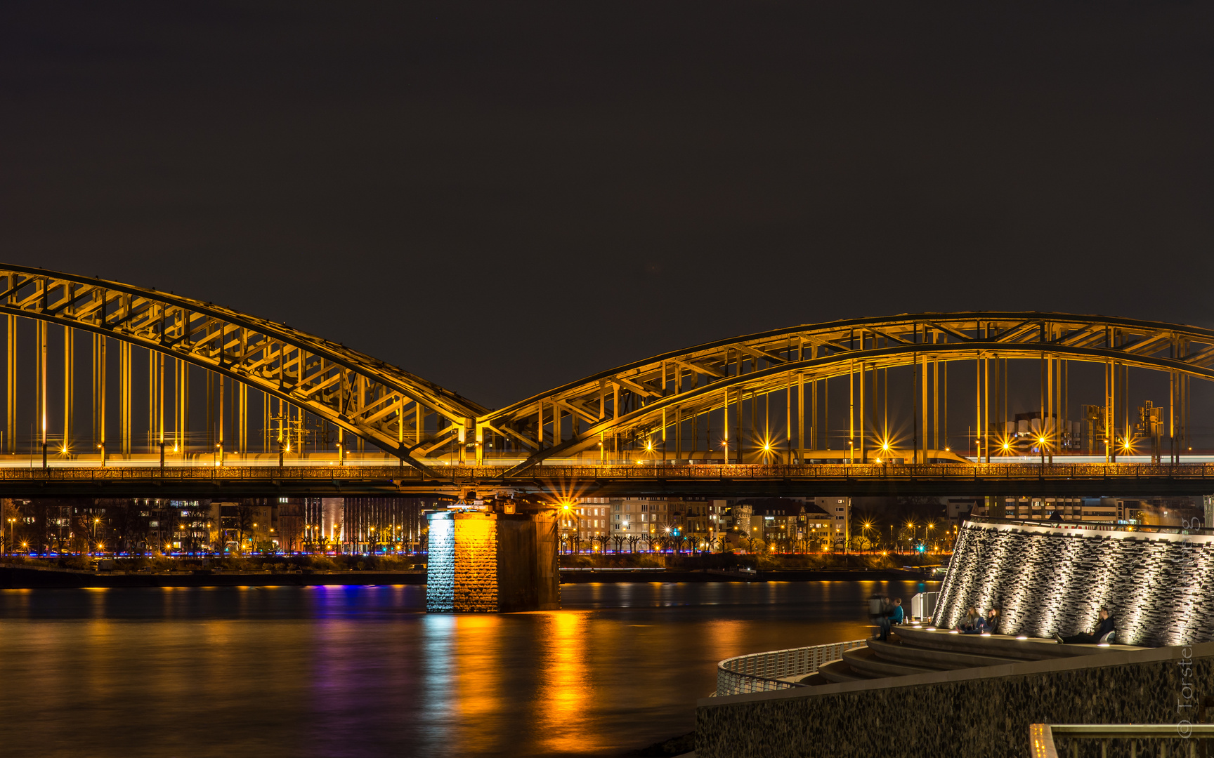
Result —
POLYGON ((543 679, 540 684, 537 735, 548 752, 585 752, 591 678, 586 672, 588 611, 556 611, 549 615, 543 636, 543 679))

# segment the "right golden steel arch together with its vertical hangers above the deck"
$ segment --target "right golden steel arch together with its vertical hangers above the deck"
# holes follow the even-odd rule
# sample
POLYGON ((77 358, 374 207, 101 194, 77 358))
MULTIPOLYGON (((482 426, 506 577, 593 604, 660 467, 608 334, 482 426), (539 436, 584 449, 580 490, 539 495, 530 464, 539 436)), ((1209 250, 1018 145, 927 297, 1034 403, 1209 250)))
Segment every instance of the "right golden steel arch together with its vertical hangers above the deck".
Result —
MULTIPOLYGON (((1042 361, 1043 418, 1057 416, 1067 404, 1065 361, 1102 364, 1106 412, 1101 437, 1108 440, 1117 438, 1113 410, 1123 381, 1118 372, 1125 367, 1167 372, 1173 426, 1169 439, 1175 457, 1184 439, 1181 418, 1187 411, 1189 378, 1214 380, 1210 367, 1214 331, 1062 313, 924 313, 804 325, 619 366, 487 414, 477 420, 477 427, 520 440, 528 448, 527 460, 510 471, 518 473, 554 456, 592 446, 606 449, 608 438, 611 446, 618 446, 622 437, 642 439, 646 452, 653 452, 658 437, 664 457, 670 448, 671 427, 681 429, 687 418, 717 411, 724 449, 742 463, 747 441, 743 401, 782 393, 783 441, 789 452, 794 452, 795 443, 794 460, 805 460, 815 457, 813 451, 822 446, 819 388, 827 380, 846 376, 849 448, 840 452, 852 461, 867 461, 870 450, 867 443, 874 437, 879 441, 883 435, 889 441, 889 433, 872 428, 868 418, 872 414, 864 409, 866 398, 870 397, 866 387, 878 371, 913 366, 921 403, 914 403, 917 432, 912 458, 925 463, 948 446, 940 443, 941 366, 946 366, 947 382, 948 363, 975 361, 975 426, 992 429, 1000 414, 991 406, 1002 400, 991 395, 991 383, 994 381, 998 387, 1006 381, 1000 378, 998 361, 1008 359, 1042 361), (562 423, 563 417, 572 423, 562 423), (566 426, 572 428, 568 435, 566 426)), ((944 392, 947 405, 947 383, 944 392)), ((753 411, 750 417, 754 418, 753 411)), ((755 452, 779 452, 770 429, 762 438, 749 441, 755 452)), ((1110 449, 1111 456, 1116 456, 1116 445, 1110 449)), ((680 449, 676 457, 681 452, 680 449)), ((985 454, 989 462, 989 444, 985 454)))

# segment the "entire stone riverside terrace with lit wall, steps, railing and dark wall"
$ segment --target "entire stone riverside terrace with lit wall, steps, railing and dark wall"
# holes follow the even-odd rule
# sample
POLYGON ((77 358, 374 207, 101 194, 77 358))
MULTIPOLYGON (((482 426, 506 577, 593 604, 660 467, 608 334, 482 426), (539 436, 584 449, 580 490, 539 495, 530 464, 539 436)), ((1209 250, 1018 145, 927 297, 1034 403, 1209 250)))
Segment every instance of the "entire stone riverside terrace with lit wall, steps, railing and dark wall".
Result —
POLYGON ((1196 756, 1214 736, 1198 725, 1212 579, 1210 530, 971 519, 940 593, 912 600, 918 623, 722 661, 716 696, 697 702, 696 754, 1196 756), (992 633, 957 629, 970 608, 999 610, 992 633), (1055 638, 1105 610, 1111 642, 1055 638))

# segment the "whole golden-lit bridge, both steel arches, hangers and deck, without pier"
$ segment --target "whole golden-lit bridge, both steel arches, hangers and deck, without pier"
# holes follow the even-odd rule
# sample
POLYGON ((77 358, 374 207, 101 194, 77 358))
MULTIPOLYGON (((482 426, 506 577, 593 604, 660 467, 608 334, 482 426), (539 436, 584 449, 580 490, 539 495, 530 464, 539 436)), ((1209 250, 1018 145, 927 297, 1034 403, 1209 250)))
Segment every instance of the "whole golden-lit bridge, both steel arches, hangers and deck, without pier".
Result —
POLYGON ((5 496, 1214 491, 1190 418, 1214 331, 1193 326, 852 319, 490 410, 221 306, 13 266, 0 287, 5 496))

